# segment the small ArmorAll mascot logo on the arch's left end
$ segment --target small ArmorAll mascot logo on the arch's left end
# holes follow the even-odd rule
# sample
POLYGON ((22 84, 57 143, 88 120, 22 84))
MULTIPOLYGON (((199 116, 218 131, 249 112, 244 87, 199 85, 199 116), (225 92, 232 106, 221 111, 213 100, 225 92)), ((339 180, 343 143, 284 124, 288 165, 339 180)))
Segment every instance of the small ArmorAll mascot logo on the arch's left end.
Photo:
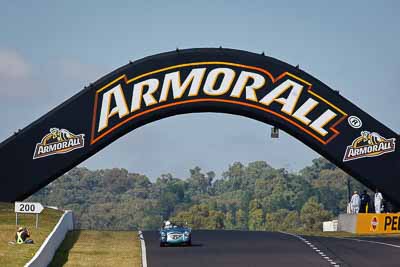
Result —
POLYGON ((85 135, 75 135, 66 129, 51 128, 42 141, 36 144, 33 159, 65 154, 85 146, 85 135))

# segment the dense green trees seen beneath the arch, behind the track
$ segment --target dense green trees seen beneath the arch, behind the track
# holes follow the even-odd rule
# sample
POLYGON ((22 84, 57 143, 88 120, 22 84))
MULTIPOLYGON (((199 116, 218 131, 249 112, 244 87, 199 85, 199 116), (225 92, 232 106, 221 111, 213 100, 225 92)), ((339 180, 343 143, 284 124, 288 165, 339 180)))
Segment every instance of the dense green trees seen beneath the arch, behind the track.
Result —
POLYGON ((75 168, 31 200, 73 210, 85 229, 157 229, 172 218, 195 229, 315 231, 346 211, 348 181, 363 188, 323 158, 298 173, 235 162, 219 179, 195 167, 155 182, 125 169, 75 168))

